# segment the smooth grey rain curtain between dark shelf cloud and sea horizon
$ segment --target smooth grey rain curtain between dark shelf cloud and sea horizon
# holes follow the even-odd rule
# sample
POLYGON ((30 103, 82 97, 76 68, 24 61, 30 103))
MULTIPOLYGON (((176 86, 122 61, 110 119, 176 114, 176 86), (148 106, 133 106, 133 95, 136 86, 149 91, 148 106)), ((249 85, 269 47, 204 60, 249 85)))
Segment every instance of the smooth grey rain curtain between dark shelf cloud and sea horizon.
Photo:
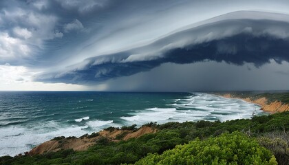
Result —
POLYGON ((215 61, 193 64, 165 63, 133 76, 107 80, 91 85, 90 90, 107 91, 232 91, 232 90, 288 90, 289 76, 275 74, 287 69, 289 63, 279 65, 271 61, 261 68, 246 67, 215 61))

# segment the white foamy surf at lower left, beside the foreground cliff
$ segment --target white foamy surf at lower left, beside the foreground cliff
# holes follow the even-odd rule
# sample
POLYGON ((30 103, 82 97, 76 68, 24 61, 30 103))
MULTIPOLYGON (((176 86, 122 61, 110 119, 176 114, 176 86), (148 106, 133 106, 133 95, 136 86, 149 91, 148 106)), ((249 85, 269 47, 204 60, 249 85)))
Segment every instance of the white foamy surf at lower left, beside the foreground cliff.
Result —
POLYGON ((0 128, 0 155, 14 156, 30 151, 32 147, 54 137, 65 135, 79 137, 92 131, 85 130, 87 126, 61 125, 56 122, 34 124, 30 128, 9 126, 0 128))

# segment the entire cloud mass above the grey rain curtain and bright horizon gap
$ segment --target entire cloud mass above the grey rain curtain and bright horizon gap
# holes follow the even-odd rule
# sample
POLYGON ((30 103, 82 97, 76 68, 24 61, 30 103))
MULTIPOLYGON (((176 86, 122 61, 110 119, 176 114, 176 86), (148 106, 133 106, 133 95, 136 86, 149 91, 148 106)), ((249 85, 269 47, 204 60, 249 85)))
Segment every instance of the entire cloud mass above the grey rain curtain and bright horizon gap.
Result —
POLYGON ((82 85, 167 63, 283 65, 288 8, 286 0, 3 0, 0 65, 24 66, 39 73, 35 81, 82 85))

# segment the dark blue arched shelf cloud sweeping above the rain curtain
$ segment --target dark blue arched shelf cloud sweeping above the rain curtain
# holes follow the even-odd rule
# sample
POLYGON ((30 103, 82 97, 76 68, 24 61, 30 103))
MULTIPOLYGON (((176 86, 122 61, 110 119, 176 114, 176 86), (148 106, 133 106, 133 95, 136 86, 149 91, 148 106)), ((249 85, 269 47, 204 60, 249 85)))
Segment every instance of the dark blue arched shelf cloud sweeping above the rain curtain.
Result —
POLYGON ((228 19, 206 23, 143 47, 87 58, 64 71, 41 74, 36 80, 91 84, 147 72, 163 63, 224 61, 233 65, 253 63, 260 67, 271 59, 277 63, 289 62, 288 29, 288 22, 273 20, 228 19))

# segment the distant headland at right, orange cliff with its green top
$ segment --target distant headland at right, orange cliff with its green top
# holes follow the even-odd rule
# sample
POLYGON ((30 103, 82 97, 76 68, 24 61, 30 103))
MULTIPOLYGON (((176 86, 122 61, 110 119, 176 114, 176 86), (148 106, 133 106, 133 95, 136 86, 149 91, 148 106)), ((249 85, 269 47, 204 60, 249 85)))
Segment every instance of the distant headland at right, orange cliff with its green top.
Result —
POLYGON ((289 111, 289 104, 287 102, 282 102, 281 100, 278 100, 276 96, 268 96, 268 94, 242 94, 242 93, 214 93, 214 94, 217 96, 222 96, 224 98, 237 98, 242 99, 246 102, 259 104, 261 106, 261 110, 269 113, 289 111))

